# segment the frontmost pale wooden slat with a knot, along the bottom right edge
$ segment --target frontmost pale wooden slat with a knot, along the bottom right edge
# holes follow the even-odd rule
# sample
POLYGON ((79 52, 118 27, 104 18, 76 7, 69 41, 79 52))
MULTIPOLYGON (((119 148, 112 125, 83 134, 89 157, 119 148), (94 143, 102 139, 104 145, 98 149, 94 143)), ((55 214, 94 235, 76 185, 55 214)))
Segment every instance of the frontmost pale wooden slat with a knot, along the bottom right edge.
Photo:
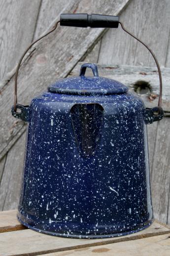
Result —
POLYGON ((143 238, 111 245, 86 247, 44 256, 170 256, 170 235, 143 238))

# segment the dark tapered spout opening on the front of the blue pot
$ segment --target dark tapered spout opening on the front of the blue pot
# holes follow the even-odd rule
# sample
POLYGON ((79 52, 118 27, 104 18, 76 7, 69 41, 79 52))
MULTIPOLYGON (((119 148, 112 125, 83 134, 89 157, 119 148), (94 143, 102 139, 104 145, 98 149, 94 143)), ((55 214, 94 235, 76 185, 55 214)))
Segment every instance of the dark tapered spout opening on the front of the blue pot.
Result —
POLYGON ((95 155, 100 143, 103 107, 98 103, 75 104, 71 121, 78 151, 83 157, 95 155))

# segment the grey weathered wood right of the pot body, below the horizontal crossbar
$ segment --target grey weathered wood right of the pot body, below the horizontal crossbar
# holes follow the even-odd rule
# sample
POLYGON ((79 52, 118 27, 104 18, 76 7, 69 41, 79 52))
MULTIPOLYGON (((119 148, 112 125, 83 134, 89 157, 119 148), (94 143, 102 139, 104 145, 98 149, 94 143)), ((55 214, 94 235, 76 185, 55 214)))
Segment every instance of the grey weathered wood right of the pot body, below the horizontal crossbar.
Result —
POLYGON ((151 184, 155 217, 166 223, 170 221, 170 118, 158 123, 151 184))

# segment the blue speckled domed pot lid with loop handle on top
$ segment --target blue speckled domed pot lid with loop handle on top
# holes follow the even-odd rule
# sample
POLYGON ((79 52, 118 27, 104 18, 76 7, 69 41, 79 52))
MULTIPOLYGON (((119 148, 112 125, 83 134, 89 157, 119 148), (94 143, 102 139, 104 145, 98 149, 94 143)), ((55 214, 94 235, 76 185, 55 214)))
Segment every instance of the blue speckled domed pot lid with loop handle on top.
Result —
POLYGON ((91 63, 81 66, 79 77, 61 79, 48 87, 48 91, 51 92, 77 95, 121 94, 128 89, 126 85, 116 80, 99 77, 97 66, 91 63), (86 68, 92 69, 94 77, 85 76, 86 68))

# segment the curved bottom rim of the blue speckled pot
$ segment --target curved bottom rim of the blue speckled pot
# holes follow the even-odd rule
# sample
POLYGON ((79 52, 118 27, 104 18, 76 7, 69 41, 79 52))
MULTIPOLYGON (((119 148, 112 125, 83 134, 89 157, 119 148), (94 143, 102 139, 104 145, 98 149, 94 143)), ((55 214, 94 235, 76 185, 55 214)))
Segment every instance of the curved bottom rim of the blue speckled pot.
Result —
POLYGON ((131 234, 137 233, 137 232, 139 232, 143 229, 148 228, 154 221, 154 218, 152 218, 151 220, 142 224, 141 227, 138 226, 136 229, 131 230, 131 231, 118 232, 118 233, 112 233, 112 234, 110 233, 110 234, 103 234, 103 235, 98 235, 98 234, 96 234, 96 235, 81 235, 81 234, 80 235, 77 235, 77 234, 73 235, 73 234, 56 233, 56 232, 36 228, 35 226, 22 221, 20 219, 20 217, 18 216, 18 214, 17 214, 17 219, 24 226, 26 226, 26 227, 28 227, 28 228, 36 231, 36 232, 39 232, 39 233, 52 235, 52 236, 59 236, 59 237, 66 237, 66 238, 79 238, 79 239, 100 239, 100 238, 112 238, 112 237, 120 237, 120 236, 131 235, 131 234))

